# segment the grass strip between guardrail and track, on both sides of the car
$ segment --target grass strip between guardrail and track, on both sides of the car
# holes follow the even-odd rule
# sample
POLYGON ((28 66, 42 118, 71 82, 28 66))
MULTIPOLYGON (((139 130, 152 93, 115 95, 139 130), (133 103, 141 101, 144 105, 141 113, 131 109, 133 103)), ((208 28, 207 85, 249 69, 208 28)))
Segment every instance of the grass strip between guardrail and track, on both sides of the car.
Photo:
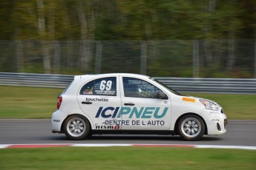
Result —
MULTIPOLYGON (((63 89, 0 86, 0 118, 50 118, 63 89)), ((228 119, 256 120, 256 95, 186 94, 223 106, 228 119)))

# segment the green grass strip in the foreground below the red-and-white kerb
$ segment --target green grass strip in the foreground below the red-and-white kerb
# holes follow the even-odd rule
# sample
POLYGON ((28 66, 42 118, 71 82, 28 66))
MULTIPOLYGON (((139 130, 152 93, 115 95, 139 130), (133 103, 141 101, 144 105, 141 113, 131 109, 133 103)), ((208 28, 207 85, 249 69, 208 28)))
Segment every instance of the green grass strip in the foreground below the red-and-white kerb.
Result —
POLYGON ((239 149, 1 149, 0 169, 255 169, 256 152, 239 149))

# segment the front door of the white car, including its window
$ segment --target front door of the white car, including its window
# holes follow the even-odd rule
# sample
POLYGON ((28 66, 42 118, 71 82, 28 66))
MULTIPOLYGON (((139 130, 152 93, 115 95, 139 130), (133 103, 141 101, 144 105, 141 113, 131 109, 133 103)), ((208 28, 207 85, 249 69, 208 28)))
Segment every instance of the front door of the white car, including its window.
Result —
MULTIPOLYGON (((169 130, 171 128, 171 100, 160 98, 163 90, 150 79, 123 77, 121 82, 122 125, 124 130, 169 130)), ((163 97, 163 95, 162 95, 163 97)))

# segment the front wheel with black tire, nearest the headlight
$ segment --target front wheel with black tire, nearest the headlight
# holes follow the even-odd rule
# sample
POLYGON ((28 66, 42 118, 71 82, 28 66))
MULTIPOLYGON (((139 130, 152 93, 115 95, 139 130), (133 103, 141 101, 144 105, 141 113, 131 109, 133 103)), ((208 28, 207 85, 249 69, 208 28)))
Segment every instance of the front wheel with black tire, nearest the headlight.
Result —
POLYGON ((185 115, 178 123, 178 132, 184 140, 200 140, 205 129, 202 118, 197 115, 185 115))

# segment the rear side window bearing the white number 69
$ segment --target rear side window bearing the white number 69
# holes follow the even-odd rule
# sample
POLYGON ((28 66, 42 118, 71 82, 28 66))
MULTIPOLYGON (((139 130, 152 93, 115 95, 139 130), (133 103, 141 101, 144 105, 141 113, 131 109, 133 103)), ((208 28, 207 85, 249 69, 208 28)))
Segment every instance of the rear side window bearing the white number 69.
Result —
POLYGON ((80 95, 116 95, 116 78, 99 78, 82 86, 80 95))

